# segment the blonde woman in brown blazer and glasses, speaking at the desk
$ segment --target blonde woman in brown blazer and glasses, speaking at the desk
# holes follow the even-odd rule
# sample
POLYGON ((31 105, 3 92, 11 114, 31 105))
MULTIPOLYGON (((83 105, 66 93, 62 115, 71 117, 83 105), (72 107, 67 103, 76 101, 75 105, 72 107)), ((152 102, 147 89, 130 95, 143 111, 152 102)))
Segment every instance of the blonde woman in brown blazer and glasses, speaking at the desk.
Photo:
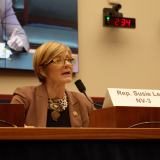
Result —
POLYGON ((40 46, 33 57, 39 86, 19 87, 11 103, 25 106, 25 125, 35 127, 87 127, 94 109, 82 93, 70 92, 75 58, 70 48, 58 42, 40 46))

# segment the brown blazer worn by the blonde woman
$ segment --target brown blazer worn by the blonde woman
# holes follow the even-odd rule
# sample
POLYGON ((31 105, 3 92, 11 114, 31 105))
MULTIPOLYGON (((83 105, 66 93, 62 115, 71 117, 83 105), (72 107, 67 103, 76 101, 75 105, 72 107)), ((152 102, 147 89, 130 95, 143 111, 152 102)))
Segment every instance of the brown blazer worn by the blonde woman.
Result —
MULTIPOLYGON (((71 127, 88 127, 89 116, 94 108, 82 93, 66 90, 71 127), (77 116, 73 112, 78 113, 77 116)), ((24 104, 25 125, 35 127, 46 127, 48 93, 44 84, 39 86, 19 87, 13 93, 11 103, 24 104)))

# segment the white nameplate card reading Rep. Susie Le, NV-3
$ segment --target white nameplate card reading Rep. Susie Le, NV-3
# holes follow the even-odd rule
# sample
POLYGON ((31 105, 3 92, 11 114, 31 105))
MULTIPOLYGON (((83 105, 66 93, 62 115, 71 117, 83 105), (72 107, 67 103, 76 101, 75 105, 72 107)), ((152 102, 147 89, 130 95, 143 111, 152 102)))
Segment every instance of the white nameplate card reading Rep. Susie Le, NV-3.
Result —
POLYGON ((160 90, 108 88, 103 107, 160 107, 160 90))

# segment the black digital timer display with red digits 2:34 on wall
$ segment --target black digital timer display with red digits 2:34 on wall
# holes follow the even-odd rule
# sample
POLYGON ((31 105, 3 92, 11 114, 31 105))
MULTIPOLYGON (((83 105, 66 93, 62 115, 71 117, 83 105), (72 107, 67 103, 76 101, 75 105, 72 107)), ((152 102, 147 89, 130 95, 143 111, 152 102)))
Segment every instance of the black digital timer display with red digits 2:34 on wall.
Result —
POLYGON ((106 27, 121 27, 121 28, 136 28, 134 18, 120 17, 104 17, 104 26, 106 27))

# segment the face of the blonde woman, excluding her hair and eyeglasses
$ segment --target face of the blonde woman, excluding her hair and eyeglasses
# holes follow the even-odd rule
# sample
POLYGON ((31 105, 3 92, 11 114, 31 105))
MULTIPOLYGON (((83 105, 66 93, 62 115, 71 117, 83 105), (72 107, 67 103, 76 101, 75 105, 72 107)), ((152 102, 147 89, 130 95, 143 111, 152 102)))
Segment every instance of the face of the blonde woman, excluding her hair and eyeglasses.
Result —
MULTIPOLYGON (((54 57, 54 59, 69 57, 70 55, 66 51, 54 57)), ((63 67, 58 67, 54 62, 52 62, 46 66, 45 74, 47 76, 46 83, 54 83, 56 85, 66 84, 72 80, 72 66, 67 60, 63 67)))

